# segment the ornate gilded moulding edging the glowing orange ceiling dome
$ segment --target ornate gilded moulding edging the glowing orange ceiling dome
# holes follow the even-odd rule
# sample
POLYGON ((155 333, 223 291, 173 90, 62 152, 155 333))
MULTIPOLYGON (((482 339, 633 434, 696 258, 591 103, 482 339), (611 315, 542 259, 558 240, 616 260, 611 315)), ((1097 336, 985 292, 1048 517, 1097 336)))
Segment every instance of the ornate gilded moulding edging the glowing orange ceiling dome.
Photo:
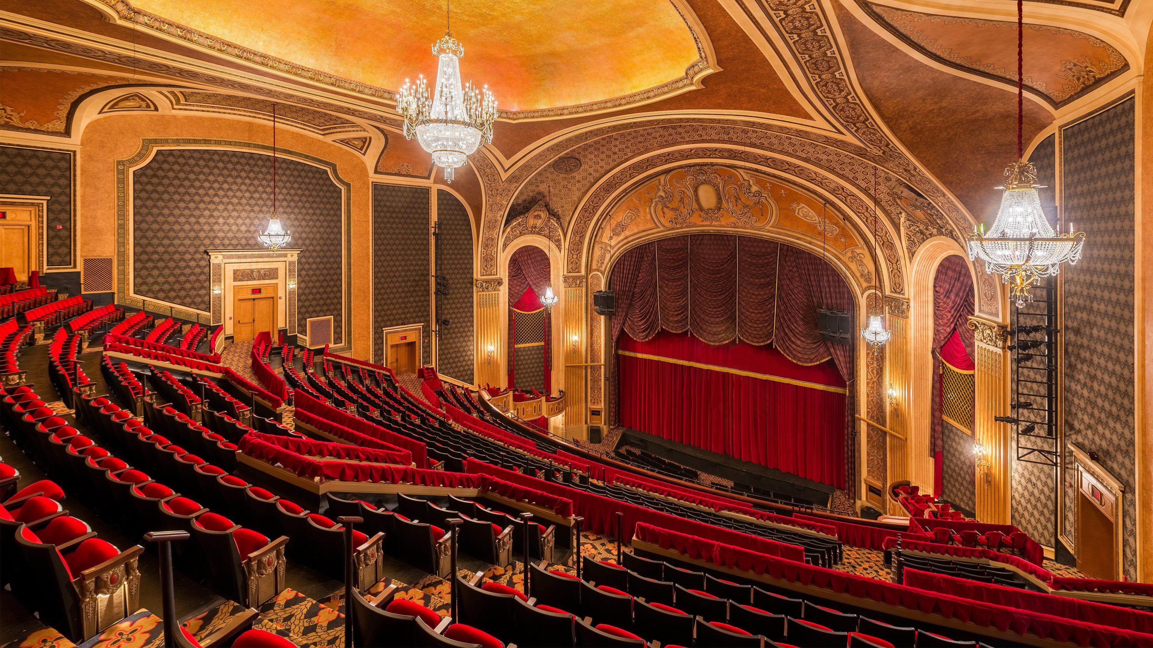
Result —
MULTIPOLYGON (((374 97, 377 99, 384 99, 393 104, 397 103, 397 92, 394 90, 389 90, 386 88, 379 88, 368 83, 361 83, 359 81, 352 81, 349 78, 344 78, 341 76, 336 76, 321 71, 315 68, 309 68, 284 59, 264 54, 238 45, 229 40, 218 38, 210 33, 184 27, 180 23, 172 22, 167 18, 158 16, 156 14, 145 12, 143 9, 137 9, 133 7, 129 0, 97 0, 101 5, 115 12, 116 16, 121 20, 128 21, 134 24, 146 27, 151 30, 158 31, 166 36, 190 43, 193 45, 198 45, 201 47, 206 47, 217 53, 233 56, 242 61, 273 69, 279 73, 288 74, 315 83, 321 83, 324 85, 331 85, 333 88, 339 88, 341 90, 347 90, 349 92, 355 92, 357 95, 364 95, 368 97, 374 97)), ((660 85, 649 88, 647 90, 639 90, 636 92, 631 92, 628 95, 623 95, 620 97, 613 97, 611 99, 602 99, 600 101, 590 101, 587 104, 575 104, 572 106, 559 106, 555 108, 536 108, 528 111, 499 111, 502 120, 505 121, 523 121, 523 120, 537 120, 537 119, 556 119, 563 116, 571 116, 575 114, 586 113, 597 113, 604 111, 612 111, 620 108, 623 106, 634 105, 634 104, 647 104, 669 97, 671 95, 679 93, 685 90, 689 90, 696 86, 698 81, 719 68, 715 67, 708 60, 707 48, 698 36, 696 30, 685 17, 680 7, 676 2, 672 3, 673 8, 680 15, 681 20, 685 22, 685 28, 693 36, 693 43, 696 45, 696 53, 700 56, 698 60, 693 61, 685 69, 684 76, 668 81, 660 85)))

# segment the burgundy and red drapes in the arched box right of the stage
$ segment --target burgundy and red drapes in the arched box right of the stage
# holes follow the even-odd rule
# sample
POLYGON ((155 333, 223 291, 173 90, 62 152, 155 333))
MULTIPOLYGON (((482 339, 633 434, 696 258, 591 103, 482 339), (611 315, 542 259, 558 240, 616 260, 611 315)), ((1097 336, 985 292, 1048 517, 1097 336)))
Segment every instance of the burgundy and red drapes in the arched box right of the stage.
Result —
MULTIPOLYGON (((932 400, 932 443, 934 475, 933 492, 940 497, 944 489, 942 470, 944 440, 941 431, 941 351, 954 336, 957 336, 965 355, 973 357, 973 330, 969 327, 969 317, 973 315, 973 278, 969 274, 969 264, 964 257, 948 256, 937 266, 933 277, 933 380, 932 400)), ((956 347, 952 348, 956 352, 956 347)), ((954 353, 954 360, 959 353, 954 353)), ((972 361, 970 361, 972 363, 972 361)), ((950 362, 954 367, 960 367, 950 362)))

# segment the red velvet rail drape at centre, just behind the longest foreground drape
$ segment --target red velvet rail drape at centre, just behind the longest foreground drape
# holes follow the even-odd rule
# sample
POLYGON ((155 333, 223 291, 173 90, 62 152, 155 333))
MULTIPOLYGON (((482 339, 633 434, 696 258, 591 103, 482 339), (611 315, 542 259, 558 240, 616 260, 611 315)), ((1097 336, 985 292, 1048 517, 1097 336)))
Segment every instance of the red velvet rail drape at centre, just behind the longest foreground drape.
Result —
POLYGON ((662 513, 643 506, 628 504, 627 502, 619 502, 600 495, 594 495, 591 492, 568 488, 558 483, 529 477, 528 475, 498 468, 483 461, 476 461, 475 459, 467 459, 465 461, 465 470, 469 474, 483 474, 499 477, 506 482, 512 482, 534 490, 541 490, 550 495, 556 495, 557 497, 571 499, 574 506, 574 512, 578 515, 583 517, 588 530, 596 534, 616 537, 617 512, 619 511, 624 513, 624 518, 621 519, 621 535, 626 538, 632 537, 633 529, 636 523, 647 522, 691 536, 698 536, 716 542, 723 541, 737 547, 746 548, 753 552, 779 556, 786 560, 805 560, 805 550, 796 544, 786 544, 784 542, 776 542, 774 540, 715 527, 713 525, 706 525, 694 520, 686 520, 684 518, 678 518, 676 515, 670 515, 668 513, 662 513))

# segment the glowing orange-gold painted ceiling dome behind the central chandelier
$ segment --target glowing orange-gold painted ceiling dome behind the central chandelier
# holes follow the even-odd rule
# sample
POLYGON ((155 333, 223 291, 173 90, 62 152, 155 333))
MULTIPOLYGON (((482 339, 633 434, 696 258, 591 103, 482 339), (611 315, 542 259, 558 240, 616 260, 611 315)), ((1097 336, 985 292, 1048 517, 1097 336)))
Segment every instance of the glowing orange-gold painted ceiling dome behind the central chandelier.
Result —
MULTIPOLYGON (((131 0, 168 21, 292 63, 395 90, 436 75, 443 0, 131 0)), ((684 76, 693 35, 670 0, 458 0, 465 81, 503 110, 611 99, 684 76)))

